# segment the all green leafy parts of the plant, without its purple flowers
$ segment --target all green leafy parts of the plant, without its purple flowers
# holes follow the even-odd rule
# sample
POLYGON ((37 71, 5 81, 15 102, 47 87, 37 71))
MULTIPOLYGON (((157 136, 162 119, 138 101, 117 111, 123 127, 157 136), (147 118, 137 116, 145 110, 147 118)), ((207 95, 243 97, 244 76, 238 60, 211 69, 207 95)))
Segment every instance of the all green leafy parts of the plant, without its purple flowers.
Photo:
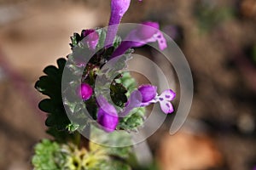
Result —
MULTIPOLYGON (((96 120, 97 105, 95 94, 82 104, 77 101, 77 92, 72 89, 78 87, 80 80, 73 81, 73 77, 82 72, 81 81, 90 84, 91 87, 95 87, 96 77, 99 77, 101 82, 97 85, 101 88, 100 92, 104 93, 108 89, 109 93, 110 87, 110 96, 118 109, 125 107, 131 92, 137 87, 136 81, 131 77, 130 73, 121 72, 126 66, 126 61, 131 59, 131 50, 122 57, 116 58, 116 62, 113 65, 109 65, 105 71, 102 71, 102 66, 108 62, 114 48, 119 46, 121 39, 116 37, 113 47, 102 48, 106 38, 106 31, 103 29, 96 29, 96 31, 100 37, 96 47, 98 51, 91 59, 84 56, 84 54, 87 54, 84 52, 88 52, 88 49, 81 42, 84 38, 83 34, 74 33, 70 44, 73 53, 68 55, 69 62, 67 63, 66 59, 58 59, 58 67, 54 65, 47 66, 44 69, 45 76, 40 77, 35 84, 38 92, 49 97, 48 99, 43 99, 38 107, 41 111, 47 113, 45 121, 46 126, 49 127, 47 133, 55 137, 55 141, 44 139, 35 146, 35 155, 32 158, 35 170, 131 170, 131 167, 125 161, 131 156, 131 146, 111 148, 90 143, 90 150, 79 148, 80 134, 76 131, 83 129, 88 123, 88 117, 85 116, 84 109, 86 107, 86 111, 89 111, 90 116, 96 120), (84 65, 85 68, 77 66, 79 58, 76 56, 85 59, 82 61, 88 61, 88 64, 84 65), (62 74, 66 64, 68 68, 67 74, 70 77, 66 75, 66 72, 65 76, 70 80, 68 79, 63 85, 61 83, 62 74), (61 86, 65 89, 63 99, 61 86), (72 96, 72 98, 66 99, 65 96, 72 96), (73 122, 68 119, 64 105, 73 114, 73 122)), ((136 131, 138 127, 143 125, 144 116, 144 108, 135 108, 128 116, 119 120, 118 129, 136 131)), ((105 133, 106 136, 104 136, 98 133, 100 131, 100 129, 91 130, 90 137, 102 139, 104 141, 103 144, 106 145, 131 145, 131 136, 128 133, 124 133, 124 135, 105 133)))

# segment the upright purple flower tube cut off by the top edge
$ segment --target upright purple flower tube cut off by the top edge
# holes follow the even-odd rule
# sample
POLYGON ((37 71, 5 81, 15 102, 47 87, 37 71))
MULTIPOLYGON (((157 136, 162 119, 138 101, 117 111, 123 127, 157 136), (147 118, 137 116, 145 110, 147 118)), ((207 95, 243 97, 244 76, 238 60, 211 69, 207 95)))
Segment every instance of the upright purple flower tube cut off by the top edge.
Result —
MULTIPOLYGON (((142 0, 139 0, 142 1, 142 0)), ((113 44, 114 37, 118 31, 118 26, 122 20, 125 12, 130 6, 131 0, 112 0, 111 1, 111 15, 108 23, 108 33, 105 41, 105 46, 113 44)))

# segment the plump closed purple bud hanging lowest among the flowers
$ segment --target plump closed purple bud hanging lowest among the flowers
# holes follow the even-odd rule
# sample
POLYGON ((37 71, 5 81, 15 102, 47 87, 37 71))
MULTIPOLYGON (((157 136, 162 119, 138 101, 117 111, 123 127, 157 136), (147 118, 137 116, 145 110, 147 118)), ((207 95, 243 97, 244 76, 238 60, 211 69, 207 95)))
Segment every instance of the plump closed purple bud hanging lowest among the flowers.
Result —
POLYGON ((97 122, 102 125, 107 133, 111 133, 119 123, 118 113, 113 105, 110 105, 104 97, 99 96, 97 102, 100 107, 97 113, 97 122))

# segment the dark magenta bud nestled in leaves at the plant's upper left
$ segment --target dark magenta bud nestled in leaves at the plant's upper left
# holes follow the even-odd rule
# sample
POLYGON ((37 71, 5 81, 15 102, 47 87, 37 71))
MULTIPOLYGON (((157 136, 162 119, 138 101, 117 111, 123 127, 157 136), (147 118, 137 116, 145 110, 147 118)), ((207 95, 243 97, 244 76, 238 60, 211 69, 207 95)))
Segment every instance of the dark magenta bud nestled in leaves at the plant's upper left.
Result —
POLYGON ((84 37, 82 41, 88 45, 90 50, 96 49, 96 45, 99 42, 99 35, 95 30, 84 30, 82 31, 82 36, 84 37))

